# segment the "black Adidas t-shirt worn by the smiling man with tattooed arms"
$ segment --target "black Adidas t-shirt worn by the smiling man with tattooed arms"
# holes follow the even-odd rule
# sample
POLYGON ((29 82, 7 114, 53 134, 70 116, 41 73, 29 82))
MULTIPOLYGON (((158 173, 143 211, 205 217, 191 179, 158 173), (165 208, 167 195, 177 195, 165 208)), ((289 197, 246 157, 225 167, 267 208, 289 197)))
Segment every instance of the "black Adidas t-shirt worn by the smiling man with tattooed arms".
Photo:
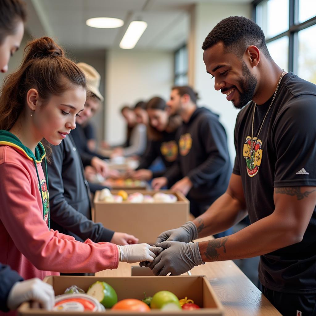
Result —
MULTIPOLYGON (((256 107, 254 139, 271 100, 256 107)), ((253 106, 251 102, 237 116, 233 169, 241 176, 252 223, 273 213, 275 187, 316 186, 316 86, 291 72, 283 77, 251 166, 253 106)), ((259 279, 275 291, 316 293, 316 208, 301 242, 261 256, 259 279)))

